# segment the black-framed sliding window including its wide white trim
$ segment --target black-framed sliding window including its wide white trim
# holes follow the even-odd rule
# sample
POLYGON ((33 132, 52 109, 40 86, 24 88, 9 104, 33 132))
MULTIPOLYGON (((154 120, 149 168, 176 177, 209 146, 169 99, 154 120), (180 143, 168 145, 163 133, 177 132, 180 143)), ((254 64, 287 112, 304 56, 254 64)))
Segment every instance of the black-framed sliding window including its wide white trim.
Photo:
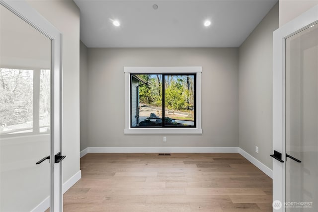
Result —
POLYGON ((200 134, 201 67, 125 67, 127 134, 200 134))

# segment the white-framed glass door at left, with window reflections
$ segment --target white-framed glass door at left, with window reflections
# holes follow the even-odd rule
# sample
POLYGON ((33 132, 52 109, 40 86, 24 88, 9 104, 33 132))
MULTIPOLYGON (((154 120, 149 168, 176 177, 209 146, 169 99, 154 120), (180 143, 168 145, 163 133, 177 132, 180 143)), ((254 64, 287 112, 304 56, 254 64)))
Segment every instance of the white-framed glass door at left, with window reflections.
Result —
POLYGON ((0 0, 1 212, 62 211, 60 66, 60 33, 0 0))

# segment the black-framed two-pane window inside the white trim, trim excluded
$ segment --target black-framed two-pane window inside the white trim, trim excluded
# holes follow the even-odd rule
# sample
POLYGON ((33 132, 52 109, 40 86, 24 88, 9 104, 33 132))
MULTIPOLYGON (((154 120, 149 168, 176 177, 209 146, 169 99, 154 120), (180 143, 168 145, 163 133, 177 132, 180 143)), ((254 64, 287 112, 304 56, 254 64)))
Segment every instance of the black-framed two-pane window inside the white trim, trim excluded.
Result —
POLYGON ((131 74, 131 127, 195 127, 195 74, 131 74))

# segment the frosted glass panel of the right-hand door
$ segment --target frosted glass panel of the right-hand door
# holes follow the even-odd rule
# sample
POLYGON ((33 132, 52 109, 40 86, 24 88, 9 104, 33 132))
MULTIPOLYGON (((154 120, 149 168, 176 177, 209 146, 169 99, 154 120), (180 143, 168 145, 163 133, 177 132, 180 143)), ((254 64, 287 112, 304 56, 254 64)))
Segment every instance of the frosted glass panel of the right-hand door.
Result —
POLYGON ((285 91, 286 212, 317 212, 318 24, 286 39, 285 91))

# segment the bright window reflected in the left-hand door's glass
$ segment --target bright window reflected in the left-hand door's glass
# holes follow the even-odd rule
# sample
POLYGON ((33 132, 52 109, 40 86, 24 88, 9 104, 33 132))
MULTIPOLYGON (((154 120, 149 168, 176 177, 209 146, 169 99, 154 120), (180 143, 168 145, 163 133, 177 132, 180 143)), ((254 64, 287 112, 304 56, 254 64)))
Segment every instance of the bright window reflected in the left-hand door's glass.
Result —
POLYGON ((0 68, 0 136, 50 132, 51 71, 0 68))

